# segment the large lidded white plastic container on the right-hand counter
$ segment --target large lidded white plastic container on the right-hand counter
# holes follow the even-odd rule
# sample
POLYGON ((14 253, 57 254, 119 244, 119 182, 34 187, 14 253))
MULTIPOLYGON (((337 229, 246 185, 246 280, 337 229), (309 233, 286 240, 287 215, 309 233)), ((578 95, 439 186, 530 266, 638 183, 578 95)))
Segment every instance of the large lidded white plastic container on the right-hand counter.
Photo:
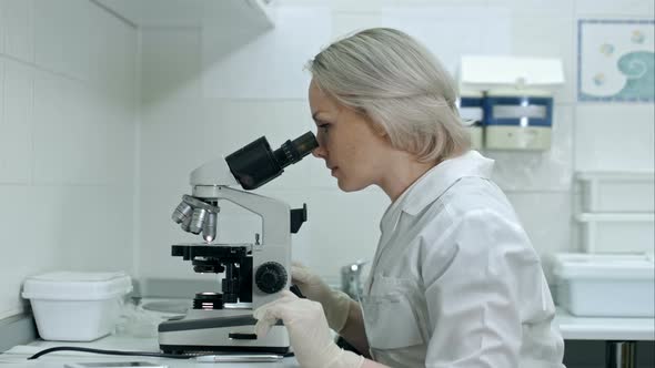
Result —
POLYGON ((654 317, 653 255, 558 254, 556 303, 578 317, 654 317))

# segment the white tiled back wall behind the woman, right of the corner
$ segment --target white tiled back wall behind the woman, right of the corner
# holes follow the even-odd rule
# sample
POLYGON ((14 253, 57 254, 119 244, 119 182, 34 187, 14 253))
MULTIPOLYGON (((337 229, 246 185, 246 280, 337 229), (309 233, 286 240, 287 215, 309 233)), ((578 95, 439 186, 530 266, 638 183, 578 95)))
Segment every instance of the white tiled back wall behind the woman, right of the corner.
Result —
MULTIPOLYGON (((280 0, 275 4, 329 9, 333 38, 356 29, 387 25, 385 22, 393 20, 394 11, 401 9, 403 17, 445 12, 453 24, 466 22, 467 27, 457 28, 461 34, 430 33, 416 27, 410 27, 407 31, 419 32, 416 37, 432 47, 437 57, 455 60, 458 54, 451 55, 453 48, 447 45, 464 42, 456 44, 456 50, 476 48, 481 42, 480 33, 484 31, 480 28, 486 27, 481 24, 487 23, 484 14, 492 12, 502 19, 492 21, 497 39, 483 41, 488 52, 561 58, 566 83, 555 95, 552 149, 543 153, 486 152, 496 160, 494 178, 506 191, 535 248, 542 254, 577 248, 571 236, 574 171, 653 170, 653 104, 581 104, 576 102, 575 90, 577 19, 652 18, 652 1, 280 0), (618 131, 621 134, 616 134, 618 131)), ((412 19, 403 21, 412 23, 412 19)), ((302 38, 303 31, 298 30, 296 34, 302 38)), ((179 196, 189 191, 187 181, 191 170, 261 135, 266 135, 272 145, 279 145, 312 125, 304 96, 208 96, 206 91, 219 86, 211 83, 220 83, 220 80, 208 79, 206 72, 214 64, 211 59, 203 59, 200 40, 213 48, 220 48, 220 42, 224 42, 223 38, 200 29, 149 29, 143 34, 143 231, 139 249, 145 277, 200 277, 192 273, 188 263, 169 256, 170 244, 199 241, 183 234, 169 219, 179 196)), ((324 40, 315 42, 326 44, 324 40)), ((286 50, 284 45, 281 48, 286 50)), ((265 70, 266 60, 252 59, 241 69, 248 68, 265 70)), ((380 191, 341 193, 322 163, 310 157, 289 167, 282 177, 260 193, 288 201, 292 207, 308 203, 309 223, 294 235, 294 258, 323 276, 336 280, 341 265, 372 257, 379 219, 389 204, 380 191)), ((251 219, 243 213, 235 217, 239 219, 225 221, 230 225, 223 226, 223 235, 229 239, 243 236, 243 241, 251 242, 250 233, 255 231, 251 228, 251 219), (246 229, 238 235, 234 228, 239 224, 246 229)))

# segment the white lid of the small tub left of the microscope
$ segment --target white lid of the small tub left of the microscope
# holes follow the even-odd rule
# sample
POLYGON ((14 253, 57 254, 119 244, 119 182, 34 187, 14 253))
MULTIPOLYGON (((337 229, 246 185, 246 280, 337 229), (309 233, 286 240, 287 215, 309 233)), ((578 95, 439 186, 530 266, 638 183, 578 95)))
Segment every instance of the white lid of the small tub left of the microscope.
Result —
POLYGON ((100 300, 132 290, 130 276, 123 272, 53 272, 28 277, 23 285, 26 299, 100 300))

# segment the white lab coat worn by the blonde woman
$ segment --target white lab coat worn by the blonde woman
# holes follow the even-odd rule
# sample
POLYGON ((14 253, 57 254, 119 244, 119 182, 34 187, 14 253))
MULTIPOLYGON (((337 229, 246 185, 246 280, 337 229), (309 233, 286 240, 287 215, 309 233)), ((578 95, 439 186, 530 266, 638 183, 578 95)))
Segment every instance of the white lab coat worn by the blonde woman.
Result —
POLYGON ((382 217, 360 298, 372 357, 391 367, 564 367, 540 258, 493 160, 444 161, 382 217))

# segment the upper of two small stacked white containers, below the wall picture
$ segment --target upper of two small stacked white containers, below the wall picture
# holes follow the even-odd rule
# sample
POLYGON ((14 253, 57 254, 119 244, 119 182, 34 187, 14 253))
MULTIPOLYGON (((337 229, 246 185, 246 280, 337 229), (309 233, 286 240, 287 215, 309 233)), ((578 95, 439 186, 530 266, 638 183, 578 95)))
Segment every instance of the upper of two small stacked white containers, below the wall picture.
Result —
POLYGON ((653 213, 655 184, 653 172, 582 172, 583 212, 653 213))

